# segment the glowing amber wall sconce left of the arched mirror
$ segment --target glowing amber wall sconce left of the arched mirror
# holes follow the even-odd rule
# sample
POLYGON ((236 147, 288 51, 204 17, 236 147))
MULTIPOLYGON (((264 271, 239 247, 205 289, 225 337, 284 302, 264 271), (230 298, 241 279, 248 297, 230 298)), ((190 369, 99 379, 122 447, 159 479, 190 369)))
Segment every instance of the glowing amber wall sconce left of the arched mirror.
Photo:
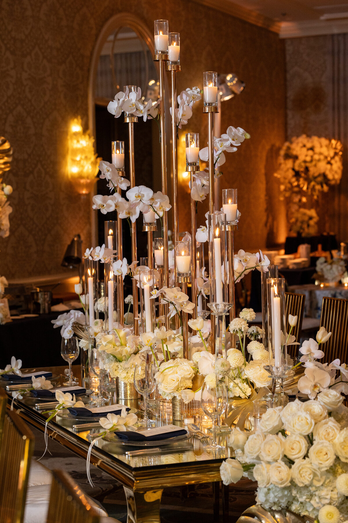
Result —
POLYGON ((68 147, 68 177, 79 194, 88 194, 93 188, 102 158, 97 158, 94 153, 94 138, 89 131, 83 134, 80 117, 70 124, 68 147))

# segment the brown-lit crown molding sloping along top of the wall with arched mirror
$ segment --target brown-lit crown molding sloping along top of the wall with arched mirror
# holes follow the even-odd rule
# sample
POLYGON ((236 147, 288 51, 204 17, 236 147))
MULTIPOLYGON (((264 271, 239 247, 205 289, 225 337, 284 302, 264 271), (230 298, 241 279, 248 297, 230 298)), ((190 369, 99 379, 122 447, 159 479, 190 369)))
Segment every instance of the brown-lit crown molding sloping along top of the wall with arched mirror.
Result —
MULTIPOLYGON (((230 0, 192 0, 197 4, 205 5, 211 7, 212 9, 218 9, 223 13, 235 16, 236 18, 241 18, 250 24, 254 24, 258 27, 263 27, 269 31, 279 33, 281 30, 280 22, 275 22, 267 16, 263 16, 255 11, 251 11, 237 4, 233 4, 230 0)), ((287 38, 287 37, 284 37, 287 38)))

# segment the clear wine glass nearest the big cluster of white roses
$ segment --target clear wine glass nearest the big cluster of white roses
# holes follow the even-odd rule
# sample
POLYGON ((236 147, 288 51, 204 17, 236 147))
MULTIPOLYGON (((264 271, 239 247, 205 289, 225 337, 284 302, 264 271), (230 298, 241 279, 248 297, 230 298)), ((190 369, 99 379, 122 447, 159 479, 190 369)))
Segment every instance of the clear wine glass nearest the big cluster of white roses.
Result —
POLYGON ((215 441, 215 423, 217 418, 221 416, 227 406, 227 392, 225 384, 220 383, 218 380, 216 380, 213 385, 203 382, 201 405, 203 412, 212 418, 213 422, 212 444, 206 447, 206 450, 223 449, 224 447, 221 447, 215 441))

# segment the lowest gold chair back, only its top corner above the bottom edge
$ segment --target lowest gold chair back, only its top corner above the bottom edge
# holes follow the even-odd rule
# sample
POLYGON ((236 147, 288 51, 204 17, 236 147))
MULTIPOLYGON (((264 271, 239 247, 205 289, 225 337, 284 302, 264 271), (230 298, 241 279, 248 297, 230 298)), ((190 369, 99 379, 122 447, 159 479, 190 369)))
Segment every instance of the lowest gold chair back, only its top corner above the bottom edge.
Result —
POLYGON ((53 471, 47 523, 99 523, 100 516, 73 479, 63 470, 53 471))

